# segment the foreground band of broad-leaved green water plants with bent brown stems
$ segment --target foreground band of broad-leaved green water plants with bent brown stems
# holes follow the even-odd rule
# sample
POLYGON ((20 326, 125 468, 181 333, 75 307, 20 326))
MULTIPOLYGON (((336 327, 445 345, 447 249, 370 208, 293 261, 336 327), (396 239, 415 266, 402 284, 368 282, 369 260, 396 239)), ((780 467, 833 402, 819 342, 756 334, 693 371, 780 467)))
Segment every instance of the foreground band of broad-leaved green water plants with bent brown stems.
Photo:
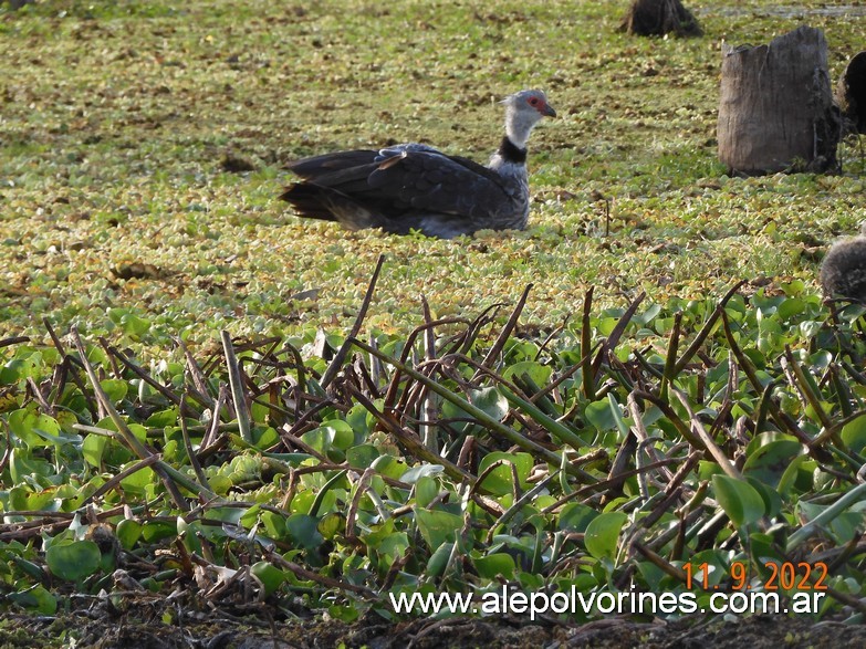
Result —
POLYGON ((9 345, 9 601, 195 584, 355 619, 512 584, 707 606, 805 562, 832 566, 800 584, 828 588, 822 615, 858 610, 864 310, 786 292, 595 315, 588 293, 545 344, 514 335, 520 307, 408 339, 226 334, 150 371, 77 334, 9 345))

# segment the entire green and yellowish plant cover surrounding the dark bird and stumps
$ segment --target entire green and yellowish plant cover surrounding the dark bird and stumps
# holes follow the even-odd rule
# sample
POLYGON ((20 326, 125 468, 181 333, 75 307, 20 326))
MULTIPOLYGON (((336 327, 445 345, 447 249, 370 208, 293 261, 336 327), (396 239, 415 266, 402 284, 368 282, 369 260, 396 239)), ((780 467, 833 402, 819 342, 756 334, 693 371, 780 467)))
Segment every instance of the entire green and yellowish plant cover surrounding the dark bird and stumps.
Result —
POLYGON ((703 38, 640 40, 626 6, 0 4, 0 608, 776 585, 859 620, 866 321, 816 274, 866 214, 862 148, 729 178, 714 127, 722 40, 807 22, 835 80, 866 15, 710 1, 703 38), (275 200, 315 153, 483 161, 533 86, 560 117, 524 232, 275 200))

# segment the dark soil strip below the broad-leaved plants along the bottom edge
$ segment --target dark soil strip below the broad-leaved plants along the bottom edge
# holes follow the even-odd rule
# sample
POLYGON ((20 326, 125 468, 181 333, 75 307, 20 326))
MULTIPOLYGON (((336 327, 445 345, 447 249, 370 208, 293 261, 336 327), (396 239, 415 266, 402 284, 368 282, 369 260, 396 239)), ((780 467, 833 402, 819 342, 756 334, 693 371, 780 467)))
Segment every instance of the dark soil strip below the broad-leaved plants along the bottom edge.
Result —
POLYGON ((96 618, 84 613, 61 617, 7 616, 0 622, 0 648, 69 647, 73 638, 75 647, 97 649, 775 649, 831 643, 834 649, 866 647, 865 627, 813 624, 781 615, 734 619, 697 616, 674 622, 605 618, 586 625, 531 626, 513 619, 477 618, 388 624, 377 616, 351 625, 321 618, 271 622, 262 611, 243 618, 213 611, 204 616, 207 619, 195 619, 202 616, 178 616, 170 605, 163 613, 173 618, 170 624, 161 618, 144 619, 140 611, 96 618))

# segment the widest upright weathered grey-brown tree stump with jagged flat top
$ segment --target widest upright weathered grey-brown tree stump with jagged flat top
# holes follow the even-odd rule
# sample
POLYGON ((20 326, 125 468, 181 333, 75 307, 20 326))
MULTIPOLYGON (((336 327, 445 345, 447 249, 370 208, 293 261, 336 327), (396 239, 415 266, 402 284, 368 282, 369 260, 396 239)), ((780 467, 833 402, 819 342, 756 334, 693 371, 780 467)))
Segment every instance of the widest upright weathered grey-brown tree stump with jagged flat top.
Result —
POLYGON ((800 27, 770 45, 722 46, 719 159, 735 174, 838 168, 827 42, 800 27))

